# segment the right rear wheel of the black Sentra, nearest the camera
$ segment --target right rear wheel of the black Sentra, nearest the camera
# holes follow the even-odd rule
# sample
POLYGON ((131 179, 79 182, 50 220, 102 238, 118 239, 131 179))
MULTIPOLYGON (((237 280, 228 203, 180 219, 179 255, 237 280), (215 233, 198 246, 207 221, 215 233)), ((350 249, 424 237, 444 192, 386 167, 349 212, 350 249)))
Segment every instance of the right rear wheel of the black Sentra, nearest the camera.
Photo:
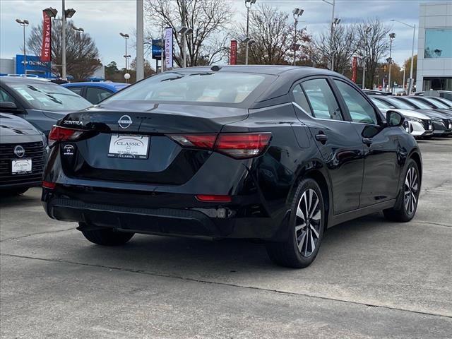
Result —
POLYGON ((268 242, 266 249, 274 263, 304 268, 316 258, 323 239, 325 203, 319 184, 310 178, 299 182, 290 208, 295 213, 290 216, 287 239, 268 242))

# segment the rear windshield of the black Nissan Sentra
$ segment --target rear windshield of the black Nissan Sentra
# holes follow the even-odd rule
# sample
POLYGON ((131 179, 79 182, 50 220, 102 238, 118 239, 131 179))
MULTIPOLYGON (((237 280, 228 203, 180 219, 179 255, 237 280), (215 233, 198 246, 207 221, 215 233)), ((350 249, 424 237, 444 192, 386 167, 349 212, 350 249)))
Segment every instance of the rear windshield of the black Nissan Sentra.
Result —
POLYGON ((117 100, 239 103, 265 78, 251 73, 165 72, 124 88, 102 103, 117 100))

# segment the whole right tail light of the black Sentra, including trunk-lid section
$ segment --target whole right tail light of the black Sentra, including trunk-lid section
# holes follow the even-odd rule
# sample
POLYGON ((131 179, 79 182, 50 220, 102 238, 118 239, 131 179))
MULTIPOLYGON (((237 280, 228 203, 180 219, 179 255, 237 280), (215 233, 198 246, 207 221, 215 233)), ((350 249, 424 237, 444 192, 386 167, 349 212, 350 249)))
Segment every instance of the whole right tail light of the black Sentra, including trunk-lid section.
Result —
POLYGON ((170 134, 183 147, 215 150, 236 159, 261 155, 270 143, 271 133, 170 134))

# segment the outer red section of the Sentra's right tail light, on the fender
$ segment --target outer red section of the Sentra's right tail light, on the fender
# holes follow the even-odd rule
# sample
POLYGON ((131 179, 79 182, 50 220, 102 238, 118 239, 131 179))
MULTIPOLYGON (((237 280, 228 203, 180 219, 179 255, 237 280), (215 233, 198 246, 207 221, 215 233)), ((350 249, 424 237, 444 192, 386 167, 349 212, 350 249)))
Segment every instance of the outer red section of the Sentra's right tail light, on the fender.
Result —
POLYGON ((215 150, 231 157, 256 157, 270 143, 271 133, 224 133, 215 143, 215 150))

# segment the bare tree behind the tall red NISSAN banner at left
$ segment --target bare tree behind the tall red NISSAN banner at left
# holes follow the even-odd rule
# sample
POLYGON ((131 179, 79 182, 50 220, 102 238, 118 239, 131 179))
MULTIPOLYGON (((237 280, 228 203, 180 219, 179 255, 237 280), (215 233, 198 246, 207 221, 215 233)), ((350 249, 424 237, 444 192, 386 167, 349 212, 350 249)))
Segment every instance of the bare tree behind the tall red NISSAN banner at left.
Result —
MULTIPOLYGON (((76 80, 85 80, 102 66, 99 51, 88 33, 81 34, 73 30, 72 20, 66 27, 66 69, 76 80)), ((61 76, 61 20, 54 20, 52 25, 52 73, 61 76)), ((28 50, 41 54, 42 24, 33 26, 27 40, 28 50)))

